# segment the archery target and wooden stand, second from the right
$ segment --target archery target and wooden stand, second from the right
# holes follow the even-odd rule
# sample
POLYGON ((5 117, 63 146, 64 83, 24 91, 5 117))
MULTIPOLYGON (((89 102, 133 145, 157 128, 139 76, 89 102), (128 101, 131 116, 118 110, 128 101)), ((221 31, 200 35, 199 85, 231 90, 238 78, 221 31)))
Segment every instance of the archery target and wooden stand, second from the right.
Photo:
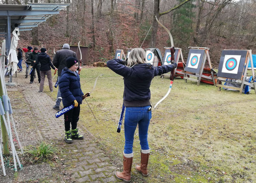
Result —
POLYGON ((190 48, 188 53, 188 60, 186 67, 184 69, 184 80, 195 81, 197 82, 197 86, 200 85, 200 82, 205 82, 208 84, 216 85, 214 75, 217 73, 212 69, 212 63, 209 55, 208 47, 188 47, 190 48), (204 68, 206 63, 206 59, 208 60, 208 64, 210 68, 204 68), (194 78, 192 78, 192 77, 194 78), (197 79, 195 79, 195 77, 197 79))

